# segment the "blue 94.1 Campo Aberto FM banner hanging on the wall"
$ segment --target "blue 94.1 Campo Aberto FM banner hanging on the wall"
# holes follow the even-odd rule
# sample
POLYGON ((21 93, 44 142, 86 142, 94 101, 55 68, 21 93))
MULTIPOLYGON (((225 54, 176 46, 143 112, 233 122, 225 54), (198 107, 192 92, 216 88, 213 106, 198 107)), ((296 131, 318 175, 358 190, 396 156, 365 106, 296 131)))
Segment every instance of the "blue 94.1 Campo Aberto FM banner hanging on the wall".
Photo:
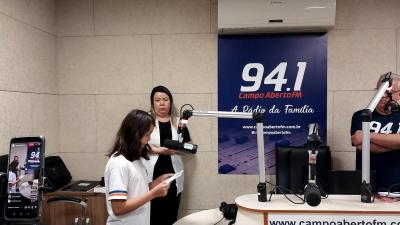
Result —
MULTIPOLYGON (((275 146, 302 146, 308 124, 327 123, 327 35, 218 37, 218 110, 264 117, 266 173, 275 146)), ((220 174, 258 174, 256 122, 218 120, 220 174)))

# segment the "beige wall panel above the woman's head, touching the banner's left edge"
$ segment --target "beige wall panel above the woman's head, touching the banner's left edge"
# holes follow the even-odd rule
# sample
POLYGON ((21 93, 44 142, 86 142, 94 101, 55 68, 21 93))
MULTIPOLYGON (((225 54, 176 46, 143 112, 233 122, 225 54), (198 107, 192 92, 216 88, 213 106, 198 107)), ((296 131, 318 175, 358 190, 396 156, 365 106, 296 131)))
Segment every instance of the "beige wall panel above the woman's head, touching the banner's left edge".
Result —
POLYGON ((154 35, 154 83, 176 93, 215 93, 217 40, 215 35, 154 35))

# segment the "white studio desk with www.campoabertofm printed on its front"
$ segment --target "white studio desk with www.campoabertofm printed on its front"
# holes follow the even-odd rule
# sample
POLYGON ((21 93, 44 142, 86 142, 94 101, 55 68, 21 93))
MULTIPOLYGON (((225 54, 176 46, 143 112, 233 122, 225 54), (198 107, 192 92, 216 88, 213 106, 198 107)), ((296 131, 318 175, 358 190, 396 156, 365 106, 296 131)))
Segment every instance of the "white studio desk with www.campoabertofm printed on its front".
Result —
POLYGON ((235 203, 235 225, 400 225, 400 201, 362 203, 360 195, 329 195, 316 207, 293 204, 283 195, 259 202, 256 194, 249 194, 235 203))

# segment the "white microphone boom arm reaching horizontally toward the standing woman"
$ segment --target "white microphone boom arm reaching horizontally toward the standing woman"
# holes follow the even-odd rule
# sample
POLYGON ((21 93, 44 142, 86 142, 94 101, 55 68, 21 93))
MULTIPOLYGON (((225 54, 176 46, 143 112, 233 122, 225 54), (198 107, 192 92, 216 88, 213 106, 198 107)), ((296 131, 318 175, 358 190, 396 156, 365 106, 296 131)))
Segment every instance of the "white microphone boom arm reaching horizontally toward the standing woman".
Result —
POLYGON ((200 117, 218 117, 232 119, 254 119, 257 123, 257 152, 258 152, 258 172, 259 183, 257 185, 258 201, 267 201, 267 185, 265 182, 265 159, 264 159, 264 123, 261 113, 247 112, 229 112, 229 111, 197 111, 185 110, 182 114, 184 119, 189 119, 191 116, 200 117))

